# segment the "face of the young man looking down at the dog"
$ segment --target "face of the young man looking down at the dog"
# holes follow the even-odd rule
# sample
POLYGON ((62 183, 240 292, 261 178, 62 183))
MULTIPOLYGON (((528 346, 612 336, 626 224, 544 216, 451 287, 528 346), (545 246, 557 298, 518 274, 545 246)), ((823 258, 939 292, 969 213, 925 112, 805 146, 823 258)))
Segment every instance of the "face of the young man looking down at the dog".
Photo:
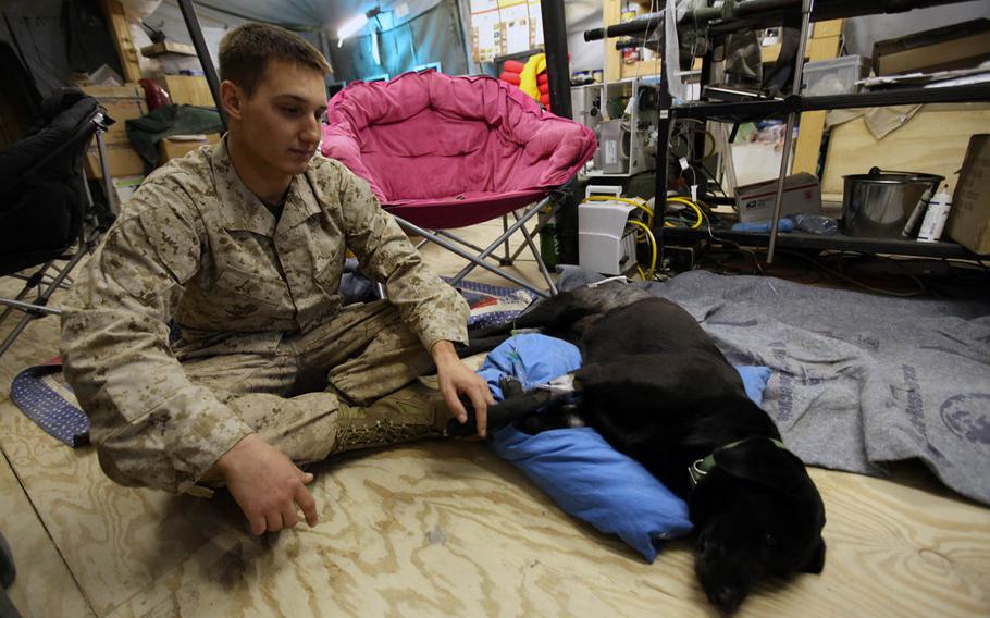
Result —
POLYGON ((325 110, 326 89, 319 71, 269 60, 253 95, 242 99, 240 140, 273 171, 301 174, 320 143, 325 110))

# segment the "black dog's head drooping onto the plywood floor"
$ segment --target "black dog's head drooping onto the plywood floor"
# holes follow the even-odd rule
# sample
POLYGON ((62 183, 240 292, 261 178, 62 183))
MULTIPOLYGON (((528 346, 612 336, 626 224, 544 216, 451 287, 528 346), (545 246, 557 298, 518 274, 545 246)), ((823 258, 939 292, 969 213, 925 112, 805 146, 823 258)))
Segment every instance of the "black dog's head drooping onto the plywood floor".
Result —
POLYGON ((825 506, 801 459, 770 440, 715 453, 691 495, 695 572, 719 609, 734 611, 767 576, 821 572, 825 506))

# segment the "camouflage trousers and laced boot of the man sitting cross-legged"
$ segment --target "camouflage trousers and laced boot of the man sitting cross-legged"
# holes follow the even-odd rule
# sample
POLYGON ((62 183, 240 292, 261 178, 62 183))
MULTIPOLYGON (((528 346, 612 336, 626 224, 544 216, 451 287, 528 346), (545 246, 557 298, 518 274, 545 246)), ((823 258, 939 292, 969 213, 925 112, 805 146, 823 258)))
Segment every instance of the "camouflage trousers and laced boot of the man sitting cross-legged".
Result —
POLYGON ((417 380, 432 358, 385 300, 348 306, 272 354, 198 353, 182 367, 300 465, 440 435, 448 416, 440 392, 417 380))

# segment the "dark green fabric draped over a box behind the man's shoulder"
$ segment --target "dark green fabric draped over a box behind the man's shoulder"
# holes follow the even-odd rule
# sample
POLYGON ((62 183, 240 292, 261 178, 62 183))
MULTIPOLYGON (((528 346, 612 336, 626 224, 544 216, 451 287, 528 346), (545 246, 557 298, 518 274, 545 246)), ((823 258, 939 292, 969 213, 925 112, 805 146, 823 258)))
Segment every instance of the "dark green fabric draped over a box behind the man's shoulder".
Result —
POLYGON ((172 135, 223 133, 220 113, 213 108, 164 106, 126 122, 127 139, 145 161, 145 171, 158 166, 158 143, 172 135))

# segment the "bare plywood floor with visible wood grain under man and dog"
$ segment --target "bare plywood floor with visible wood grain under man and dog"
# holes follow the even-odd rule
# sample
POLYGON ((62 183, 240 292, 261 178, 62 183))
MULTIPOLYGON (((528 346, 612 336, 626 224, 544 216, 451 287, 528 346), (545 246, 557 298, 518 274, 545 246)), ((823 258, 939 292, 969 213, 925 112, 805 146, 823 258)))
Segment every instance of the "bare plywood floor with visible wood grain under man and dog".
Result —
MULTIPOLYGON (((424 255, 441 272, 460 265, 424 255)), ((520 272, 539 281, 532 260, 520 272)), ((0 531, 25 616, 716 615, 686 541, 647 565, 480 443, 327 464, 312 486, 320 524, 261 537, 228 498, 113 485, 91 448, 63 446, 8 398, 18 371, 58 353, 57 332, 36 321, 0 358, 0 531)), ((990 509, 911 466, 894 480, 812 477, 828 514, 825 572, 764 585, 740 616, 990 616, 990 509)))

